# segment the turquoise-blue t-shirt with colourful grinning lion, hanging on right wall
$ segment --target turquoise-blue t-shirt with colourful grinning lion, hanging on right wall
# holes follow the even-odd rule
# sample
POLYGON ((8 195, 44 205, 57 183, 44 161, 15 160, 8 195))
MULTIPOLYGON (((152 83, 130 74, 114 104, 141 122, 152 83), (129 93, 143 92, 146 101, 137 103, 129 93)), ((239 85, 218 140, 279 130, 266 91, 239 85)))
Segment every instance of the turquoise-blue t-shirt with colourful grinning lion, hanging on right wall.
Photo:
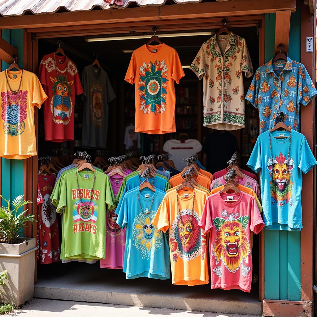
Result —
POLYGON ((301 230, 301 188, 303 176, 317 164, 305 136, 299 132, 268 130, 256 141, 247 165, 261 169, 261 196, 265 229, 301 230), (291 135, 276 139, 274 136, 291 135), (272 145, 272 156, 270 142, 272 145), (290 152, 288 157, 288 148, 290 152))

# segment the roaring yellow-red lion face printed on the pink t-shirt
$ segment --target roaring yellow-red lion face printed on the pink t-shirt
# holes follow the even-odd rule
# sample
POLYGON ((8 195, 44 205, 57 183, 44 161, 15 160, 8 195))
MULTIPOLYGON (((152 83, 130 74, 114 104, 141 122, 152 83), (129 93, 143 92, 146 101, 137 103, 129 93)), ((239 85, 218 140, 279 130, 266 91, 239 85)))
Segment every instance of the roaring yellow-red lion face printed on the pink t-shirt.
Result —
POLYGON ((215 218, 213 220, 217 228, 213 249, 216 264, 222 260, 225 267, 230 272, 235 273, 243 259, 248 263, 250 246, 246 227, 249 222, 249 216, 242 216, 237 219, 229 218, 227 220, 215 218))

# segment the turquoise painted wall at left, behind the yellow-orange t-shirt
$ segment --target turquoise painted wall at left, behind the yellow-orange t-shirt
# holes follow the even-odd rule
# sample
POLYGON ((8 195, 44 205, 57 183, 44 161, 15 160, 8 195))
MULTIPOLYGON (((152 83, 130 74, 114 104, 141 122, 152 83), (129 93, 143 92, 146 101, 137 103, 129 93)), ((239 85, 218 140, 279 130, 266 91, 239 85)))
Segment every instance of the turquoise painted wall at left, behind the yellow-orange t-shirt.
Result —
MULTIPOLYGON (((23 67, 23 30, 3 30, 2 37, 18 49, 18 63, 23 67)), ((9 65, 2 62, 2 69, 9 65)), ((23 160, 2 159, 2 195, 12 200, 23 194, 23 160)))

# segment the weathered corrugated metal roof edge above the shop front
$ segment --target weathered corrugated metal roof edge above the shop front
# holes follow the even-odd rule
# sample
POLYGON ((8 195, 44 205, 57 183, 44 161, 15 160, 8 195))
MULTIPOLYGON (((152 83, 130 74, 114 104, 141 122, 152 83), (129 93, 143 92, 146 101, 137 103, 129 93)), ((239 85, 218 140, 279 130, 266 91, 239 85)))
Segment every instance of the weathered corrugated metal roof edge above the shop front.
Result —
MULTIPOLYGON (((54 13, 61 8, 68 11, 89 11, 94 7, 107 10, 113 7, 126 8, 130 3, 140 7, 163 5, 167 0, 0 0, 2 16, 21 16, 27 11, 33 14, 54 13)), ((198 3, 202 0, 173 0, 175 3, 198 3)), ((227 1, 227 0, 217 0, 227 1)))

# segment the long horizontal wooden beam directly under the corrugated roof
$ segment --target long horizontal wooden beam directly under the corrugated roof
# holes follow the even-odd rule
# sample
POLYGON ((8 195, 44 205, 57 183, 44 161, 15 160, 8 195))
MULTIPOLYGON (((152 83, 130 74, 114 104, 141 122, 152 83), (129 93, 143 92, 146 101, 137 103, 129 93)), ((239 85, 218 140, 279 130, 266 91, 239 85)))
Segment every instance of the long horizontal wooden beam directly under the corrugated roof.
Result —
POLYGON ((88 12, 62 12, 43 15, 8 16, 0 18, 1 29, 29 29, 54 26, 158 21, 169 19, 209 18, 217 16, 244 16, 275 13, 277 10, 296 10, 296 0, 265 2, 240 0, 209 3, 170 4, 123 10, 93 10, 88 12))

